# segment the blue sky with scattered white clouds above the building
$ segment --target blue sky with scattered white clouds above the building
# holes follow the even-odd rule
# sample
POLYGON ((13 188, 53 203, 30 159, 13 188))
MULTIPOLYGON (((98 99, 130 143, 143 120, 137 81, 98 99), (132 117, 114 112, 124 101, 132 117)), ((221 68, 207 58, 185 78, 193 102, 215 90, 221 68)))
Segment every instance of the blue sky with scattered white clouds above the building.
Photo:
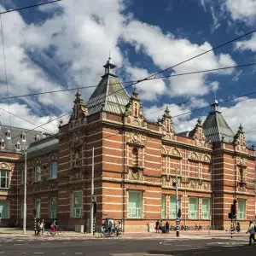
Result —
MULTIPOLYGON (((47 1, 0 0, 0 9, 44 2, 47 1)), ((121 79, 143 79, 255 29, 256 0, 147 0, 147 4, 144 0, 63 0, 2 15, 2 27, 0 97, 3 98, 96 85, 109 51, 121 79)), ((253 62, 256 62, 256 33, 174 67, 164 75, 253 62)), ((168 105, 176 131, 184 131, 193 129, 199 116, 205 119, 210 108, 195 109, 207 106, 215 94, 221 102, 253 92, 255 71, 255 67, 244 67, 157 79, 137 84, 137 90, 148 119, 160 117, 168 105), (188 114, 175 117, 182 113, 188 114)), ((84 101, 92 90, 81 91, 84 101)), ((75 91, 69 91, 9 102, 1 100, 1 121, 31 129, 71 111, 74 94, 75 91), (29 122, 9 117, 3 109, 29 122)), ((233 131, 241 123, 251 143, 256 142, 255 96, 220 106, 233 131)), ((54 132, 57 125, 54 121, 44 127, 54 132)))

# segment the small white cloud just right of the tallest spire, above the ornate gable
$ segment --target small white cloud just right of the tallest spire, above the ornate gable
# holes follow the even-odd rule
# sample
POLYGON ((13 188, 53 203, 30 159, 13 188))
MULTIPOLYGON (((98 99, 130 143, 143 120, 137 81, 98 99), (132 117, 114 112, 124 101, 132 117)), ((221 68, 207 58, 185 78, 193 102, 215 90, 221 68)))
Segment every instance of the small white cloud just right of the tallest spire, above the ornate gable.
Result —
MULTIPOLYGON (((126 72, 131 74, 132 80, 147 78, 150 74, 146 69, 138 67, 126 67, 126 72)), ((148 80, 137 84, 139 97, 146 101, 155 101, 158 96, 166 93, 166 84, 162 79, 148 80)))

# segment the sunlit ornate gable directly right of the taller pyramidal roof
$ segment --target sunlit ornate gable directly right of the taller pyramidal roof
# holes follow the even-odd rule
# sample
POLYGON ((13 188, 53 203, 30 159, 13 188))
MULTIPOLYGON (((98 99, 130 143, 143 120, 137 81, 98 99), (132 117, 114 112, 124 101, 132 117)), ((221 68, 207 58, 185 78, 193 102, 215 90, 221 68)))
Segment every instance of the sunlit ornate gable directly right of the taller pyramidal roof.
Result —
POLYGON ((125 108, 125 121, 131 125, 147 126, 147 120, 143 114, 143 107, 137 97, 136 89, 133 90, 130 101, 125 108))

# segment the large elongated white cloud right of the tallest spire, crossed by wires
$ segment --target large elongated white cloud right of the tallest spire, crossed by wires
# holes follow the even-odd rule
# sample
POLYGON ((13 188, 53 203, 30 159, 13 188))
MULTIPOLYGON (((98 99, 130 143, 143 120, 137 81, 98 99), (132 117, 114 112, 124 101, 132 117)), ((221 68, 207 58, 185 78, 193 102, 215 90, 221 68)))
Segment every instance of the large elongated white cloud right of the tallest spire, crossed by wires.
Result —
MULTIPOLYGON (((154 64, 161 69, 172 67, 179 61, 184 61, 193 55, 199 55, 212 46, 208 42, 204 44, 192 44, 186 38, 176 38, 171 33, 164 34, 160 27, 150 26, 138 20, 132 20, 126 27, 124 38, 131 43, 137 51, 143 51, 150 56, 154 64)), ((175 73, 188 71, 201 71, 218 67, 234 66, 236 62, 230 55, 214 55, 213 52, 195 60, 174 67, 175 73)), ((230 74, 232 70, 217 71, 214 73, 230 74)), ((195 74, 188 76, 170 78, 170 95, 172 96, 202 96, 211 90, 207 83, 206 74, 195 74), (182 84, 182 86, 181 86, 182 84)))

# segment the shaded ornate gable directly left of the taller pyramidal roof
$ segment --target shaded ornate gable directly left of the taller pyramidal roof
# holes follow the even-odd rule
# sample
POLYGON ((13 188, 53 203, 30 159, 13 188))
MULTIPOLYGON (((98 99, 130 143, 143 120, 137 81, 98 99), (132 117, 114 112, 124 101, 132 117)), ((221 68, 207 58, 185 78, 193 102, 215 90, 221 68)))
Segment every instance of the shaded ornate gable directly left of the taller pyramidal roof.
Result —
POLYGON ((84 125, 84 121, 86 120, 86 116, 88 113, 88 108, 84 105, 83 100, 80 98, 81 94, 79 90, 76 93, 76 99, 73 104, 73 113, 69 119, 70 128, 76 128, 80 125, 84 125))

